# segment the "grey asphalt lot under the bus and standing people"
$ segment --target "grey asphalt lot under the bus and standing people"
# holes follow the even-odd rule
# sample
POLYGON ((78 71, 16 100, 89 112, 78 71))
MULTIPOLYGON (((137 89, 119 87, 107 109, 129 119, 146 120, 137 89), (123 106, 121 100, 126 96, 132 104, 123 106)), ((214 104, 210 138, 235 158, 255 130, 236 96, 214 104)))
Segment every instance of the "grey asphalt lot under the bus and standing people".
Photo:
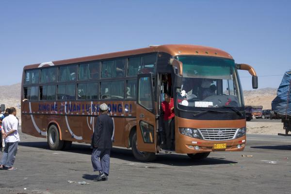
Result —
POLYGON ((290 194, 291 191, 291 137, 248 135, 245 151, 215 152, 203 161, 171 154, 143 163, 137 162, 129 149, 114 148, 107 182, 92 181, 96 174, 92 172, 88 145, 74 144, 68 151, 52 151, 45 139, 21 134, 21 140, 15 162, 18 170, 0 171, 0 194, 290 194), (90 185, 68 180, 86 181, 90 185))

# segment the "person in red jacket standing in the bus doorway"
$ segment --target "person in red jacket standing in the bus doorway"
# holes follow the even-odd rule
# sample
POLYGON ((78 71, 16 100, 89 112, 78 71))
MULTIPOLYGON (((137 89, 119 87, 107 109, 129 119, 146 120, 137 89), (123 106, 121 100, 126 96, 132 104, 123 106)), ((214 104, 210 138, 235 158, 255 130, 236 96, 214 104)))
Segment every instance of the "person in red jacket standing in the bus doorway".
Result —
POLYGON ((174 123, 174 99, 170 94, 164 94, 165 100, 162 102, 164 130, 166 135, 166 146, 169 150, 174 150, 175 123, 174 123))

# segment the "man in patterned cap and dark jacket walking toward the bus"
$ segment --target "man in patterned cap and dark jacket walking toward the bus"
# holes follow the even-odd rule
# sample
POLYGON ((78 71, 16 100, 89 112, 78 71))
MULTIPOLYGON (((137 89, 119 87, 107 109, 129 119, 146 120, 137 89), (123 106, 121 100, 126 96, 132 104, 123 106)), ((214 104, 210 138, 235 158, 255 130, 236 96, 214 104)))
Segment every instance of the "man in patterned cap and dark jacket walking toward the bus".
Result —
POLYGON ((113 143, 113 120, 108 116, 108 106, 103 103, 100 105, 101 114, 97 117, 95 130, 92 137, 92 156, 91 161, 93 170, 99 171, 95 181, 105 181, 109 175, 110 151, 113 143))

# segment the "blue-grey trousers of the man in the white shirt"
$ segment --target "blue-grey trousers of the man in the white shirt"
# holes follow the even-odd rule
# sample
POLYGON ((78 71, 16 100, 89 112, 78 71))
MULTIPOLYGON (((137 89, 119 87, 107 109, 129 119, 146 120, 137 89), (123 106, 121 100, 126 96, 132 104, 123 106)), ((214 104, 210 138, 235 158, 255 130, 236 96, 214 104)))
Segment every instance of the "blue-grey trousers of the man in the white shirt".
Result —
POLYGON ((12 167, 15 162, 18 142, 5 143, 4 152, 0 164, 6 167, 12 167))

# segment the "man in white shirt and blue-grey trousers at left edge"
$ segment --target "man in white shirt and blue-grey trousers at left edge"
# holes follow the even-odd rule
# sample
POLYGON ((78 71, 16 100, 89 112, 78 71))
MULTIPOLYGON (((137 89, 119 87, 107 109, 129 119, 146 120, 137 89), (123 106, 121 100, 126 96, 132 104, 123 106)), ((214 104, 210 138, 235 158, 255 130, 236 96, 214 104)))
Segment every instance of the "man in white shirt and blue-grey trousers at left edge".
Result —
POLYGON ((0 169, 16 170, 13 167, 17 151, 18 142, 20 142, 18 134, 18 119, 16 117, 16 109, 10 108, 9 116, 6 116, 2 121, 4 129, 5 149, 0 162, 0 169))

